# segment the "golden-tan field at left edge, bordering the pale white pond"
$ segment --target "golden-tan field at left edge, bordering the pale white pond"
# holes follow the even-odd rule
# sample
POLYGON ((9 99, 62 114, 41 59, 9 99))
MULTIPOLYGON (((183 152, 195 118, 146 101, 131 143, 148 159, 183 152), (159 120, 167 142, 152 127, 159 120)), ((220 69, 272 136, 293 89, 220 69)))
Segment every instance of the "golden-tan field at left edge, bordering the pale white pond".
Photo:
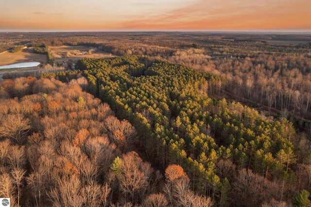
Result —
POLYGON ((39 62, 44 65, 47 63, 47 55, 35 54, 33 48, 25 48, 15 53, 3 52, 0 54, 0 66, 24 62, 39 62))

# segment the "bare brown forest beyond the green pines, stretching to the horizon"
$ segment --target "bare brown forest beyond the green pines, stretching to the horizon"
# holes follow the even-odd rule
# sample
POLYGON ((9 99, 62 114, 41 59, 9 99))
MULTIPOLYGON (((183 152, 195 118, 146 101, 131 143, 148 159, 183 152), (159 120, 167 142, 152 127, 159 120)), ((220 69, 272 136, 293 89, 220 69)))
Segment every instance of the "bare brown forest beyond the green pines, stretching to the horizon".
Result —
POLYGON ((218 74, 225 78, 217 83, 225 93, 210 90, 210 94, 253 107, 264 105, 266 111, 287 114, 297 128, 310 131, 310 123, 303 121, 311 119, 308 34, 0 33, 0 52, 40 44, 83 45, 114 55, 144 55, 218 74))

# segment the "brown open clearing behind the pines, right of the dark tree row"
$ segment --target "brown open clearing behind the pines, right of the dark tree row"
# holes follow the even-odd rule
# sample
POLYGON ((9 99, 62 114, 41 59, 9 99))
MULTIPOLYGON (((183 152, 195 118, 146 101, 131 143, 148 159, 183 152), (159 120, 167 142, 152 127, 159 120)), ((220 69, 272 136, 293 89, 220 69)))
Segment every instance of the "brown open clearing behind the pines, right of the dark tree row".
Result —
POLYGON ((86 54, 86 52, 93 49, 92 47, 86 46, 49 46, 49 48, 51 50, 54 63, 58 63, 60 65, 67 62, 75 63, 82 58, 104 58, 115 56, 103 51, 96 51, 91 54, 86 54), (68 52, 74 53, 74 51, 79 51, 80 53, 67 56, 68 52))

